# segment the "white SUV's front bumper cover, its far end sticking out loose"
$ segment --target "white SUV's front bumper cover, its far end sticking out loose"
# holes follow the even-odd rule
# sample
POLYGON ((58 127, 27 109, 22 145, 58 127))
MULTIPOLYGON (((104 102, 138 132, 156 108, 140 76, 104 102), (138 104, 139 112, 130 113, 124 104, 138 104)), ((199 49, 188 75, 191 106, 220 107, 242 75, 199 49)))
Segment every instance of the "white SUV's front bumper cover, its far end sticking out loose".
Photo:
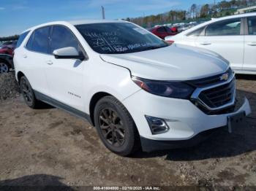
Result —
POLYGON ((203 131, 226 126, 227 117, 232 114, 245 112, 247 116, 251 113, 249 101, 246 98, 244 104, 236 112, 207 115, 189 100, 160 97, 144 90, 125 99, 123 103, 137 125, 142 144, 145 140, 189 140, 203 131), (165 120, 170 130, 166 133, 152 135, 145 115, 165 120))

